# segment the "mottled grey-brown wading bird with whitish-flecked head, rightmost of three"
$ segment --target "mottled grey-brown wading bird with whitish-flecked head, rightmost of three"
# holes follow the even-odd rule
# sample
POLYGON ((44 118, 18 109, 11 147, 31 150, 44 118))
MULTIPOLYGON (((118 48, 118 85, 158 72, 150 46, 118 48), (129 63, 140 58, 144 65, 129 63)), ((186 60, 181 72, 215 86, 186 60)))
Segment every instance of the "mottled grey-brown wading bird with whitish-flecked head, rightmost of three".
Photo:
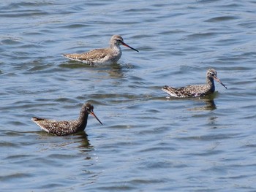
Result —
POLYGON ((215 86, 214 80, 217 80, 225 88, 227 88, 217 77, 217 72, 214 69, 208 69, 206 73, 206 84, 205 85, 188 85, 183 88, 171 88, 167 85, 162 88, 162 91, 174 97, 200 97, 206 96, 210 93, 214 93, 215 86))

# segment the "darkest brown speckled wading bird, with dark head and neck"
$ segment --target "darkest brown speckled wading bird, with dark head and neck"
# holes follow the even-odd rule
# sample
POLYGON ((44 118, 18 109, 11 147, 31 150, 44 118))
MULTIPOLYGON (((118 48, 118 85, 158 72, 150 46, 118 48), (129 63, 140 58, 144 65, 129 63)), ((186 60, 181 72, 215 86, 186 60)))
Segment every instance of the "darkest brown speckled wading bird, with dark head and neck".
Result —
POLYGON ((87 124, 88 115, 91 114, 96 118, 100 124, 100 120, 94 114, 94 106, 89 103, 83 104, 83 107, 80 111, 79 118, 77 120, 49 120, 45 118, 35 118, 33 117, 31 120, 34 123, 42 128, 42 130, 48 132, 49 134, 54 134, 56 136, 65 136, 69 134, 75 134, 80 131, 84 131, 87 124))

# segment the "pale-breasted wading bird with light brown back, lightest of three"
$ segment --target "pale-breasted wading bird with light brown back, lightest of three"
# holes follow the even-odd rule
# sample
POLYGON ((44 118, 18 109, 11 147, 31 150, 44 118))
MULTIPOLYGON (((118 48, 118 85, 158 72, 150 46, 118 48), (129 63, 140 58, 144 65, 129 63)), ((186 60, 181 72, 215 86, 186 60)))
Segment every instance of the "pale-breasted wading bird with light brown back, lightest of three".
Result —
POLYGON ((124 39, 120 35, 113 35, 110 39, 110 47, 95 49, 86 53, 64 54, 64 57, 75 61, 81 61, 92 66, 98 64, 113 64, 121 58, 122 52, 120 45, 124 45, 139 52, 135 48, 124 43, 124 39))

